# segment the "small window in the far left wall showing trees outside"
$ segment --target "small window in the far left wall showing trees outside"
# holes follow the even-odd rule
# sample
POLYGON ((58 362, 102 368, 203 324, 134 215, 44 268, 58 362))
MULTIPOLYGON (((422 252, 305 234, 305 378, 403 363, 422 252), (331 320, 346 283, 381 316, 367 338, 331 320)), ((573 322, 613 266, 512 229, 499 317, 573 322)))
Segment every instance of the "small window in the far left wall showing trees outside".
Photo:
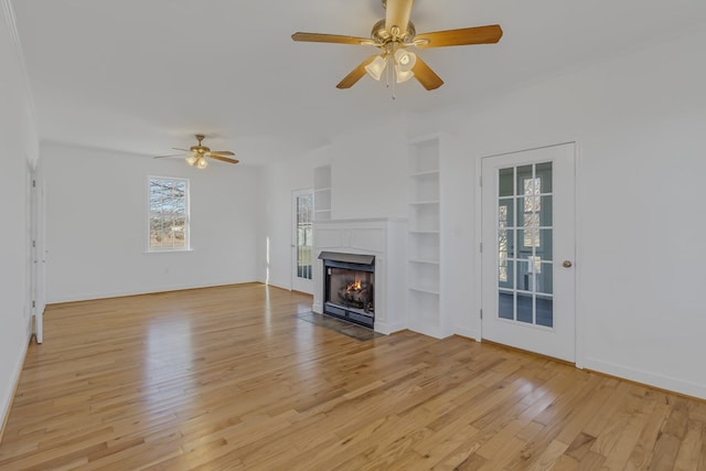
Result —
POLYGON ((149 178, 149 249, 189 249, 189 180, 149 178))

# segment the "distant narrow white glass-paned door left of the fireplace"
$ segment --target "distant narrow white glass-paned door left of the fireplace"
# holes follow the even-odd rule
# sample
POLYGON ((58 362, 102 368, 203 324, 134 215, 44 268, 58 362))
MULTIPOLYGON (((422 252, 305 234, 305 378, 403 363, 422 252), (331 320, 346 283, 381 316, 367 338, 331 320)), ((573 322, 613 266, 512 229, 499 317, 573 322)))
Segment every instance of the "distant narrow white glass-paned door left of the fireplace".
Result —
POLYGON ((292 282, 296 291, 313 293, 313 191, 292 192, 292 282))

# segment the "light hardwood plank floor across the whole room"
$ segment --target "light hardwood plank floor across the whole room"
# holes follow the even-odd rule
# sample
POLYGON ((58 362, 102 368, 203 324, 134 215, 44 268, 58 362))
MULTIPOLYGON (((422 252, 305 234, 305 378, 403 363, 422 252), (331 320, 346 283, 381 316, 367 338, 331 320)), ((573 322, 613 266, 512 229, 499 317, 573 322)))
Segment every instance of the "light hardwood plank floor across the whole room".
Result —
POLYGON ((51 306, 0 469, 706 470, 706 403, 240 285, 51 306))

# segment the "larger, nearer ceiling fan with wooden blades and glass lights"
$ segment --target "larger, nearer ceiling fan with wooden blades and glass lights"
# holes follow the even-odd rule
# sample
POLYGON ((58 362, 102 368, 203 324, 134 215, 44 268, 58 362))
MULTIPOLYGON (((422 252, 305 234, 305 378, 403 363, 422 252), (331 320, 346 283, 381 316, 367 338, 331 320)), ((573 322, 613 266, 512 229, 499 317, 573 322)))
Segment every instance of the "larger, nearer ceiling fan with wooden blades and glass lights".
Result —
POLYGON ((292 34, 291 39, 302 42, 371 45, 383 51, 382 54, 372 55, 363 61, 336 85, 338 88, 352 87, 366 73, 379 81, 387 68, 388 74, 392 74, 391 69, 394 71, 393 83, 403 83, 415 77, 426 89, 432 90, 443 85, 443 81, 420 57, 409 52, 409 47, 493 44, 503 35, 499 24, 417 34, 415 24, 409 21, 414 0, 382 1, 386 9, 385 18, 375 23, 370 39, 302 32, 292 34))

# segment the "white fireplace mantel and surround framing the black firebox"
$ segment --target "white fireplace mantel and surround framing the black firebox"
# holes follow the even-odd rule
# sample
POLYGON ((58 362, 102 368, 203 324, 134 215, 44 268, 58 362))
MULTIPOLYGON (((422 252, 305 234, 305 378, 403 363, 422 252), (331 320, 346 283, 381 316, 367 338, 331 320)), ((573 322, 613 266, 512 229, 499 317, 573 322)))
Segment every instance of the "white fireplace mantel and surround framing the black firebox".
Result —
POLYGON ((405 260, 407 221, 402 218, 331 220, 313 224, 313 306, 323 311, 321 251, 375 256, 375 332, 389 334, 407 329, 405 260))

